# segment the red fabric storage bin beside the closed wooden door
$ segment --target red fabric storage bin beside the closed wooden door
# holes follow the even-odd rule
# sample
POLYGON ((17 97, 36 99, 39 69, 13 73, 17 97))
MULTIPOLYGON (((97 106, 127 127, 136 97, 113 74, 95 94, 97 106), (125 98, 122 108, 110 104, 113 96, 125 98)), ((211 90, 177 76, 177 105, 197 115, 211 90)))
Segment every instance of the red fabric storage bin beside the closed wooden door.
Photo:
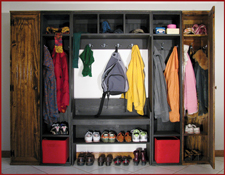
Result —
POLYGON ((65 164, 69 157, 69 138, 42 140, 42 163, 65 164))

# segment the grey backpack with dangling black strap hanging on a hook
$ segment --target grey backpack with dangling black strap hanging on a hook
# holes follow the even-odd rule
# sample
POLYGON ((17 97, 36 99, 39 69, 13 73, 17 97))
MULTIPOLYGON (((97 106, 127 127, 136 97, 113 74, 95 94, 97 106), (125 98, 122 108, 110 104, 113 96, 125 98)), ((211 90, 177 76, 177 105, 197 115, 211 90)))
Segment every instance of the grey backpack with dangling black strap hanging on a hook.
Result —
POLYGON ((110 95, 119 95, 122 93, 124 93, 125 95, 125 92, 128 91, 129 85, 126 71, 127 69, 121 60, 120 54, 116 50, 111 55, 106 65, 106 68, 102 74, 101 86, 103 89, 103 94, 98 113, 97 115, 95 115, 96 117, 98 117, 102 112, 102 107, 106 95, 109 99, 110 95))

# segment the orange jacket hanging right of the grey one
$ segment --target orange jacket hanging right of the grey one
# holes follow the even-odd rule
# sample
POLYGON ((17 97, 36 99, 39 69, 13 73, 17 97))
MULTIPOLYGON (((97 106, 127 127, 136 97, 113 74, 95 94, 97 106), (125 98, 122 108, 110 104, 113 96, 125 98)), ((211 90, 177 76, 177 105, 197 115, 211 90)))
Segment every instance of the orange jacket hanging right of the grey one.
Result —
POLYGON ((180 121, 180 113, 179 113, 180 91, 179 91, 178 68, 179 63, 178 63, 177 47, 174 46, 164 71, 164 76, 167 84, 167 101, 171 109, 171 111, 169 112, 171 122, 180 121))

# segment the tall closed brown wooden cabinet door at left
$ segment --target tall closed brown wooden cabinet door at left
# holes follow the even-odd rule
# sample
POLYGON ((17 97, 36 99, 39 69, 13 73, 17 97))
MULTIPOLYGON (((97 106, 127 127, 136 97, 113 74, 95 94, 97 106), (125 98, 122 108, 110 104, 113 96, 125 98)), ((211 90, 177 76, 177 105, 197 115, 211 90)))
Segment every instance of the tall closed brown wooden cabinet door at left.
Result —
POLYGON ((40 13, 11 12, 11 164, 40 162, 40 13))

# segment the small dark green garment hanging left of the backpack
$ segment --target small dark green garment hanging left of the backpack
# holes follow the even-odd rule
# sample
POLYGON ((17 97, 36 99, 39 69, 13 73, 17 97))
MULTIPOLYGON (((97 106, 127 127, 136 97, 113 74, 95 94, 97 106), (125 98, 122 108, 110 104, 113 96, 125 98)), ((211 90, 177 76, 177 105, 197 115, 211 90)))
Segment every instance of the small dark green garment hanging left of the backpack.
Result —
POLYGON ((93 51, 91 50, 88 44, 85 46, 84 51, 80 54, 80 58, 84 66, 82 70, 83 77, 86 76, 92 77, 91 65, 95 60, 93 57, 93 51))

